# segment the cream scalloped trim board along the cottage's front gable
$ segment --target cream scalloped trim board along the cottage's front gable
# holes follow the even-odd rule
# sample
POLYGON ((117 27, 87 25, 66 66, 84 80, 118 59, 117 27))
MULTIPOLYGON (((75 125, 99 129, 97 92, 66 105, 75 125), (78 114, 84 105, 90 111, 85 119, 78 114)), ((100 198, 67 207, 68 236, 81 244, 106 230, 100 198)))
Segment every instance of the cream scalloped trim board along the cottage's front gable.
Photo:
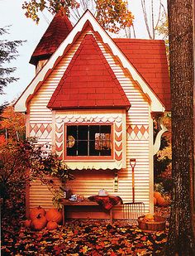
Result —
POLYGON ((150 89, 150 85, 148 85, 143 77, 139 74, 136 68, 131 65, 130 61, 127 60, 126 56, 121 52, 116 43, 112 40, 112 38, 107 34, 106 31, 102 29, 99 23, 95 20, 91 12, 87 11, 83 14, 83 17, 78 21, 72 31, 70 31, 69 35, 65 38, 65 40, 60 44, 59 48, 55 51, 55 53, 50 57, 50 59, 45 63, 42 70, 36 75, 34 80, 31 81, 31 84, 27 86, 26 90, 21 94, 21 97, 15 103, 15 111, 18 112, 26 112, 26 103, 31 96, 36 92, 36 89, 39 88, 40 84, 45 80, 45 78, 50 75, 50 72, 54 69, 55 65, 59 62, 60 57, 64 55, 64 51, 66 51, 67 47, 71 45, 78 35, 79 32, 83 30, 86 22, 90 22, 93 27, 93 31, 97 31, 98 34, 102 37, 102 41, 109 46, 114 56, 117 56, 119 60, 121 60, 121 64, 124 68, 129 70, 133 80, 136 81, 136 84, 140 87, 140 89, 148 95, 150 99, 150 108, 151 112, 164 112, 164 104, 160 102, 156 94, 150 89))

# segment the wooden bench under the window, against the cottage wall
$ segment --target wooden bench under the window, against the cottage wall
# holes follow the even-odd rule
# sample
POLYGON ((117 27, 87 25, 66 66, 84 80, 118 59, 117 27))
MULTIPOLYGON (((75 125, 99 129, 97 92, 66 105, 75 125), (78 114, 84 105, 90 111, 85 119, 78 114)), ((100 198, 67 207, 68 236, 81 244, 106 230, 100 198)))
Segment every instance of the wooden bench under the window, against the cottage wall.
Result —
MULTIPOLYGON (((62 221, 63 221, 63 225, 65 224, 65 209, 66 207, 69 206, 100 206, 98 205, 97 202, 92 201, 92 200, 83 200, 83 201, 71 201, 71 200, 65 200, 64 198, 59 200, 60 204, 63 205, 63 209, 62 209, 62 221)), ((101 206, 100 206, 101 207, 101 206)), ((113 220, 113 215, 112 215, 112 209, 111 210, 107 210, 107 212, 110 215, 110 223, 112 225, 112 220, 113 220)))

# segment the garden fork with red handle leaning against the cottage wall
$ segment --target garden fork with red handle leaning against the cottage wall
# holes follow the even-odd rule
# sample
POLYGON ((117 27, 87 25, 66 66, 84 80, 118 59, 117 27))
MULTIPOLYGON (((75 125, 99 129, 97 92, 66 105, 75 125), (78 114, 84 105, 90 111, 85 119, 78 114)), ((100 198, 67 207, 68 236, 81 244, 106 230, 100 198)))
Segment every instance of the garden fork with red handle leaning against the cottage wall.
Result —
POLYGON ((135 201, 135 167, 136 158, 130 159, 132 170, 132 202, 123 205, 123 216, 125 219, 137 219, 139 216, 144 215, 145 204, 143 202, 135 201))

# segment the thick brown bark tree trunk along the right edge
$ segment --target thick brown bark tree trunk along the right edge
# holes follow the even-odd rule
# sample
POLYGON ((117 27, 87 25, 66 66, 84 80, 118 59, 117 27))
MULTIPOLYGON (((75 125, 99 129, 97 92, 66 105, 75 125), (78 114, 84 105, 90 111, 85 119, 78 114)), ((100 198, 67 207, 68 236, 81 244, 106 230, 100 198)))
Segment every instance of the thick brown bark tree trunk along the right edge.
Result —
POLYGON ((195 255, 193 231, 193 0, 168 0, 173 193, 166 255, 195 255))

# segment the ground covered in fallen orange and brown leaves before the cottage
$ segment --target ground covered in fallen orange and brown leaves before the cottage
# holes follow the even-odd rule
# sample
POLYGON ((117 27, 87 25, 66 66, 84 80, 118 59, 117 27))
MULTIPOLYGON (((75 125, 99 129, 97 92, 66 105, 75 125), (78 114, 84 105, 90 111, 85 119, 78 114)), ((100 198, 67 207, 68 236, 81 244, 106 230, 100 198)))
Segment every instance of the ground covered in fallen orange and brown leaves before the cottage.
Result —
POLYGON ((167 232, 144 233, 136 225, 116 221, 72 220, 49 231, 21 227, 2 243, 2 255, 161 255, 167 232))

